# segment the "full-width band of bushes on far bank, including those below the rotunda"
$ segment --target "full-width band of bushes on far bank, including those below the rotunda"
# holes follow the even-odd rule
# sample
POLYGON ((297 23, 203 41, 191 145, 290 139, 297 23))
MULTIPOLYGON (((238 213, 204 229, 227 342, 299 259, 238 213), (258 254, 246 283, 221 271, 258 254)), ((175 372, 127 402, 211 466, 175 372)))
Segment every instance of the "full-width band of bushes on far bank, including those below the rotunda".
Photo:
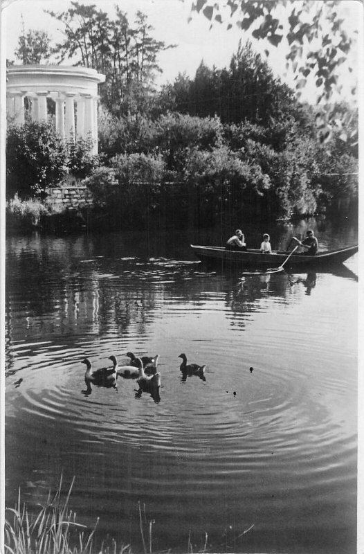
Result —
POLYGON ((87 177, 96 211, 143 226, 161 213, 172 220, 193 213, 200 224, 242 210, 309 215, 358 195, 357 161, 339 132, 320 145, 309 125, 304 130, 291 117, 264 127, 181 114, 116 120, 103 111, 102 121, 104 166, 88 141, 62 141, 51 123, 10 125, 8 197, 42 197, 71 172, 87 177))

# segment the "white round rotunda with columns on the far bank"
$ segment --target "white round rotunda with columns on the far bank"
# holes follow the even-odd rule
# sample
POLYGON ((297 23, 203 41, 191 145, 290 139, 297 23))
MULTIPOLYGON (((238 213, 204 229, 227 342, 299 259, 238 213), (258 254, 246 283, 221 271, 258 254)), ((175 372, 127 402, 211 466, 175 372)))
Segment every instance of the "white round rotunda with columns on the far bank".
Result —
POLYGON ((95 69, 62 65, 10 66, 6 73, 7 111, 16 123, 24 123, 26 107, 32 120, 47 120, 54 102, 57 131, 73 141, 91 137, 97 154, 98 84, 105 75, 95 69))

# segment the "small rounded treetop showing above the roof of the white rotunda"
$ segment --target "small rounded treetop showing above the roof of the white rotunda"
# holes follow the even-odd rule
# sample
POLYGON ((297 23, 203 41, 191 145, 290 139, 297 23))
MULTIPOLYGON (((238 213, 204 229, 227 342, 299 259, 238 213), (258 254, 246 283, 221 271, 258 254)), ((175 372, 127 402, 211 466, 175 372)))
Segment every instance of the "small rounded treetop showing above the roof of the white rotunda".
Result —
POLYGON ((21 63, 26 64, 42 64, 48 62, 51 57, 51 37, 45 30, 28 30, 23 32, 18 39, 18 47, 15 50, 15 55, 21 63))

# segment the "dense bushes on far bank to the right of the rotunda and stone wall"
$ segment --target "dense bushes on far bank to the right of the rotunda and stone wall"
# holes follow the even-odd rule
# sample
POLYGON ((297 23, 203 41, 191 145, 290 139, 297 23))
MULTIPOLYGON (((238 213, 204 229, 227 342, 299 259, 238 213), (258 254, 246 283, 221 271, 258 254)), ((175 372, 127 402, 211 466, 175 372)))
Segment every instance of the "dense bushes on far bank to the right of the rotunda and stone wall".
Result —
POLYGON ((206 224, 224 213, 291 217, 347 195, 355 200, 356 160, 338 132, 325 145, 316 141, 312 110, 302 109, 301 116, 269 118, 266 125, 221 125, 219 118, 181 114, 154 121, 129 117, 118 121, 114 134, 109 119, 109 137, 118 143, 118 135, 122 151, 109 159, 118 187, 109 187, 109 199, 101 199, 95 180, 108 180, 107 172, 96 172, 90 186, 125 224, 174 213, 175 206, 180 220, 190 221, 193 213, 194 222, 206 224), (137 152, 128 152, 132 148, 137 152))

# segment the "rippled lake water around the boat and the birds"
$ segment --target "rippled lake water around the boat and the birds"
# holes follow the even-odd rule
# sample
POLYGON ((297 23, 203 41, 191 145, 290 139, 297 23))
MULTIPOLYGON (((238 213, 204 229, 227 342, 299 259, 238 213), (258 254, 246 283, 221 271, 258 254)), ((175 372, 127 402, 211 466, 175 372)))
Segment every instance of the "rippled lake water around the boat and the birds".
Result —
MULTIPOLYGON (((320 249, 357 242, 349 223, 309 224, 320 249)), ((306 229, 262 232, 282 248, 306 229)), ((212 552, 356 552, 357 255, 241 281, 189 247, 229 231, 8 238, 7 506, 20 487, 33 509, 63 474, 98 544, 141 551, 140 502, 154 552, 206 533, 212 552), (82 359, 128 350, 160 355, 160 400, 122 378, 86 394, 82 359), (182 352, 206 380, 183 380, 182 352)))

